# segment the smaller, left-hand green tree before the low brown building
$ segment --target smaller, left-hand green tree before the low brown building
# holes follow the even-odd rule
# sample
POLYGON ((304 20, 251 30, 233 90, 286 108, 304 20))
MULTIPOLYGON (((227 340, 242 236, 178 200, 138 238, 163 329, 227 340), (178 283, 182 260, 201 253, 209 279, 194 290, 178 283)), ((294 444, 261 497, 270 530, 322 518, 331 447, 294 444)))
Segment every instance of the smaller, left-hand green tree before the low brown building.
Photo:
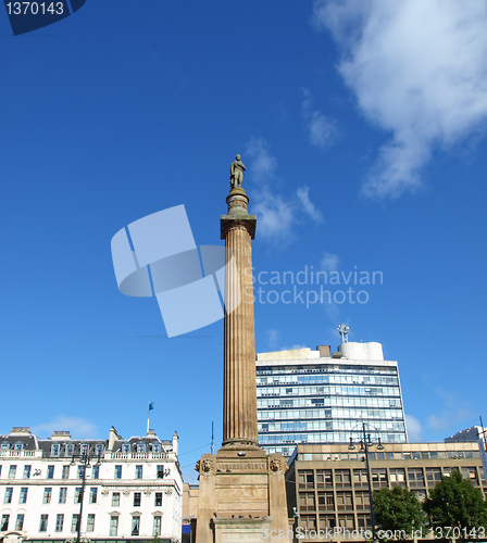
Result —
POLYGON ((373 494, 375 520, 380 530, 403 531, 408 536, 424 525, 424 512, 414 492, 394 487, 373 494))

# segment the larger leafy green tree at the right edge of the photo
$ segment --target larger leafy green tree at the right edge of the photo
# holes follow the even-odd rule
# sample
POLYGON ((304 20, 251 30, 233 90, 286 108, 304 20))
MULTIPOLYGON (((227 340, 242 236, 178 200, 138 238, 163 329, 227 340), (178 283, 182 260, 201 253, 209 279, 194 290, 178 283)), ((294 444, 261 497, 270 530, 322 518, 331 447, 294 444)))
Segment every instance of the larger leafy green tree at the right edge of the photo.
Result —
POLYGON ((429 491, 423 508, 433 528, 460 528, 460 538, 455 539, 469 539, 472 529, 487 527, 487 504, 480 489, 476 489, 470 479, 464 479, 458 469, 441 477, 441 481, 429 491))

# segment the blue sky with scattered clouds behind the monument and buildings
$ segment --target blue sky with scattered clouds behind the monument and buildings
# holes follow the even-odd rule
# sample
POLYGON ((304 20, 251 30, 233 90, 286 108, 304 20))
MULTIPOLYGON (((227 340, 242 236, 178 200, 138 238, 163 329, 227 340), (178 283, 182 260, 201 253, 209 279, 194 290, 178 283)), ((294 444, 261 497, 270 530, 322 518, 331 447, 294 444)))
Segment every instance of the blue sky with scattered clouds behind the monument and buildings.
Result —
POLYGON ((336 348, 347 323, 399 362, 412 440, 487 417, 486 24, 484 0, 88 1, 17 37, 0 13, 0 431, 128 438, 152 401, 193 480, 212 420, 222 439, 223 323, 167 339, 110 240, 184 204, 221 243, 236 153, 255 274, 383 277, 309 307, 259 285, 258 352, 336 348))

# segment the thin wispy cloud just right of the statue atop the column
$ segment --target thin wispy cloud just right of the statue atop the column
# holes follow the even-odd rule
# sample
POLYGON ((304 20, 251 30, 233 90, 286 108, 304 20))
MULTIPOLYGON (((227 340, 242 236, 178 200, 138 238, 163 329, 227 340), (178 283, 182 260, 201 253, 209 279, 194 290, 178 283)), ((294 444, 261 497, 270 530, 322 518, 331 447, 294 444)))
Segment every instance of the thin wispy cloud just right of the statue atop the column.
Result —
POLYGON ((247 146, 250 157, 249 177, 257 182, 253 191, 252 212, 259 216, 259 235, 264 240, 282 243, 294 237, 292 227, 307 216, 323 223, 322 213, 309 197, 308 187, 298 187, 292 197, 284 197, 276 188, 277 160, 263 139, 252 138, 247 146))

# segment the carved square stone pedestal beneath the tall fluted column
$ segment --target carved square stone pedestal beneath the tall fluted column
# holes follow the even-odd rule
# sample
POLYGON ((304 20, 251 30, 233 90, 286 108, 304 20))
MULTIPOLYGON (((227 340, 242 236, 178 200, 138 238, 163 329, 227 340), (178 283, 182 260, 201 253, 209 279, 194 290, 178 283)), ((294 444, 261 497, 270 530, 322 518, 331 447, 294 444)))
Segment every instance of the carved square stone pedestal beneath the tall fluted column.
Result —
POLYGON ((269 539, 271 530, 292 541, 288 530, 280 454, 266 455, 258 447, 222 447, 203 454, 200 473, 197 543, 247 543, 269 539))

